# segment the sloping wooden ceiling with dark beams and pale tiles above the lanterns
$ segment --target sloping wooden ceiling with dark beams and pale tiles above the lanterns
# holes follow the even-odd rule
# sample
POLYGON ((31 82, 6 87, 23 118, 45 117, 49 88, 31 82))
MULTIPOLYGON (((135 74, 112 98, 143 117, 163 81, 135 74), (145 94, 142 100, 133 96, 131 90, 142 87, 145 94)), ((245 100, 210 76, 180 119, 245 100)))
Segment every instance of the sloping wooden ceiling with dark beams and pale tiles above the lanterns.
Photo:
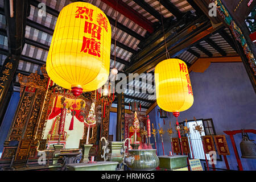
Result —
MULTIPOLYGON (((26 19, 24 47, 16 73, 29 75, 40 72, 46 63, 53 30, 60 10, 74 0, 31 0, 26 19), (39 3, 46 4, 46 16, 38 15, 39 3)), ((123 73, 154 73, 157 63, 166 59, 162 31, 162 10, 166 42, 171 57, 177 57, 188 67, 200 57, 237 56, 229 29, 223 24, 213 24, 193 0, 92 0, 84 1, 99 7, 108 16, 112 26, 112 48, 110 69, 114 68, 114 41, 116 33, 115 67, 123 73), (115 13, 117 11, 117 17, 115 13), (117 32, 115 32, 117 19, 117 32), (214 28, 213 28, 214 25, 214 28)), ((7 23, 3 0, 0 0, 0 61, 1 66, 8 55, 7 23)), ((111 75, 110 75, 111 77, 111 75)), ((141 102, 142 110, 154 104, 154 77, 152 88, 133 80, 127 83, 125 102, 141 102), (128 89, 134 85, 146 93, 134 93, 128 89), (150 92, 152 91, 152 92, 150 92)), ((19 90, 18 77, 14 78, 14 89, 19 90)), ((114 102, 115 103, 115 102, 114 102)))

